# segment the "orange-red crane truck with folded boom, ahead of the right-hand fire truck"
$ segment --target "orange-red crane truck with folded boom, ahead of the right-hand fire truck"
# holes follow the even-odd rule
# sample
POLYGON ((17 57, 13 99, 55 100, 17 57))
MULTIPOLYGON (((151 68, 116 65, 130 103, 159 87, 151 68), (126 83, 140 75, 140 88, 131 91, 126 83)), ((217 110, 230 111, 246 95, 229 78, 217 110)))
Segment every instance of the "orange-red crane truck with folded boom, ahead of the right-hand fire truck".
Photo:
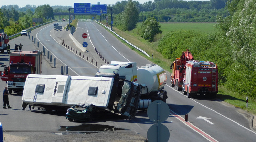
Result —
POLYGON ((170 69, 172 70, 171 75, 171 84, 172 87, 175 86, 176 90, 181 90, 184 74, 185 74, 185 64, 186 61, 194 60, 194 57, 192 56, 191 52, 189 52, 189 49, 186 49, 186 52, 183 51, 180 58, 176 58, 176 60, 171 64, 170 69))

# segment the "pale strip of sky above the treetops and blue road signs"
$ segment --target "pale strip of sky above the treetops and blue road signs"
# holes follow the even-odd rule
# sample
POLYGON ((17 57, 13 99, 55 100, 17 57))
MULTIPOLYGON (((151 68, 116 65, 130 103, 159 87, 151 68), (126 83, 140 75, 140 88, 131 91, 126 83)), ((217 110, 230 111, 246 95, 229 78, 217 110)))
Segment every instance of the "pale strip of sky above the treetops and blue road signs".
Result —
MULTIPOLYGON (((122 0, 1 0, 0 2, 0 7, 3 5, 18 5, 20 8, 26 6, 26 5, 44 5, 44 4, 49 4, 50 6, 55 6, 55 5, 63 5, 63 6, 74 6, 74 3, 91 3, 91 4, 116 4, 118 1, 122 0)), ((126 0, 128 1, 128 0, 126 0)), ((139 1, 140 3, 147 2, 149 0, 136 0, 139 1)), ((151 0, 152 2, 154 0, 151 0)), ((185 1, 190 1, 190 0, 185 0, 185 1)), ((195 1, 209 1, 209 0, 195 0, 195 1)))

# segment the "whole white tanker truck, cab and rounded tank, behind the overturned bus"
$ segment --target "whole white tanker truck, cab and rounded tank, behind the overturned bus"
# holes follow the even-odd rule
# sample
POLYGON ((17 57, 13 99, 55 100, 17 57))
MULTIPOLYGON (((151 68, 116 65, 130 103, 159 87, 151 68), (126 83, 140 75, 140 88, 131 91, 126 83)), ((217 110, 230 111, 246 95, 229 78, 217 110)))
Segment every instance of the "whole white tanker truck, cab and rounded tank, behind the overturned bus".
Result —
POLYGON ((166 72, 156 64, 147 64, 137 69, 136 62, 111 61, 101 66, 95 76, 115 77, 142 85, 139 109, 147 108, 154 100, 166 102, 167 93, 163 90, 167 81, 166 72))

